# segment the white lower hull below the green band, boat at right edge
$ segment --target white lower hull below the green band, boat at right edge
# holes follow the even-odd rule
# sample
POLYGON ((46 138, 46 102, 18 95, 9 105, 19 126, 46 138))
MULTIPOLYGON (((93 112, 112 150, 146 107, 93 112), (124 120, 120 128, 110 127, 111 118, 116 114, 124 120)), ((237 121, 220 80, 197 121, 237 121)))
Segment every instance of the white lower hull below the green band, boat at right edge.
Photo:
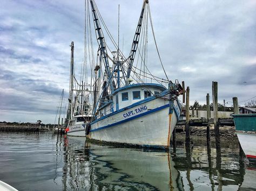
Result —
POLYGON ((237 137, 246 157, 249 160, 256 161, 256 148, 255 148, 256 133, 238 133, 237 132, 237 137))

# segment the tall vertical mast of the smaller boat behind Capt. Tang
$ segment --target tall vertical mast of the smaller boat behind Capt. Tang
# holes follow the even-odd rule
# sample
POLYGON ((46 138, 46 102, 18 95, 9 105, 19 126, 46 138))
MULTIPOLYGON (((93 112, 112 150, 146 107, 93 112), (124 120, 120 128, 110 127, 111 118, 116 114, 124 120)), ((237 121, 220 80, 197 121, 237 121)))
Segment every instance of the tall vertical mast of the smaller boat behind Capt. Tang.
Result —
POLYGON ((74 86, 74 42, 71 42, 70 84, 69 84, 69 119, 73 116, 73 86, 74 86))

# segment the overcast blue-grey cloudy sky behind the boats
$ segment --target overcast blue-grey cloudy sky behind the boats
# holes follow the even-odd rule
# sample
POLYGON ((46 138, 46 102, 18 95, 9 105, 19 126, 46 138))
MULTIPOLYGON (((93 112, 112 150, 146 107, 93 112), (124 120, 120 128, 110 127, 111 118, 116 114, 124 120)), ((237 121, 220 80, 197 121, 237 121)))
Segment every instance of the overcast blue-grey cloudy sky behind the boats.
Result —
MULTIPOLYGON (((116 39, 120 4, 127 55, 143 1, 95 1, 116 39)), ((150 9, 167 75, 185 81, 191 103, 205 103, 212 81, 219 103, 256 96, 256 1, 151 0, 150 9)), ((2 0, 0 20, 0 121, 53 123, 62 89, 68 95, 71 41, 75 64, 83 59, 84 1, 2 0)))

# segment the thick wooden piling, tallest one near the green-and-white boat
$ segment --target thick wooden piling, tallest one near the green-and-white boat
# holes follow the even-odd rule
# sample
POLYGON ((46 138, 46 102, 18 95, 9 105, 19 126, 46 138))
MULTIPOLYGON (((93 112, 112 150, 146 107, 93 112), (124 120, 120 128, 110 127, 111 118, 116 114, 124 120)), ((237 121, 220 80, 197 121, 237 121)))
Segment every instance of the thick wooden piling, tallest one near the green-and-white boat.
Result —
POLYGON ((213 122, 216 146, 220 145, 220 132, 218 124, 218 82, 212 82, 212 101, 213 101, 213 122))

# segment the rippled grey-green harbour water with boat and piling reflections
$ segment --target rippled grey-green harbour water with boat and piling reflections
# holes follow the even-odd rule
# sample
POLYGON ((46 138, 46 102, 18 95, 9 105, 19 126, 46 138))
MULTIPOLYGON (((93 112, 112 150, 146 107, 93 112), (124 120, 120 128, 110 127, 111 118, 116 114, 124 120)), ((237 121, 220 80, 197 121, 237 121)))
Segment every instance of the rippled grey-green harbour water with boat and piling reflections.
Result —
POLYGON ((0 132, 0 180, 18 190, 256 190, 238 144, 161 152, 50 132, 0 132))

